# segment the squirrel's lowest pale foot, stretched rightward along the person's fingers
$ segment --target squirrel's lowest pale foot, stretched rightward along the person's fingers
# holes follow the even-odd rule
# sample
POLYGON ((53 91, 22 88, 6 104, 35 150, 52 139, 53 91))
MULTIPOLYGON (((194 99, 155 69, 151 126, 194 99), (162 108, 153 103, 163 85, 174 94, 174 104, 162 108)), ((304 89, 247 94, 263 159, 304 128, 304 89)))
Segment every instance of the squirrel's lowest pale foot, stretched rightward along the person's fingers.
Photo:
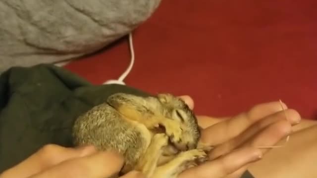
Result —
POLYGON ((204 150, 193 149, 179 153, 170 162, 159 166, 151 178, 177 178, 187 168, 195 165, 195 161, 204 162, 207 154, 204 150))

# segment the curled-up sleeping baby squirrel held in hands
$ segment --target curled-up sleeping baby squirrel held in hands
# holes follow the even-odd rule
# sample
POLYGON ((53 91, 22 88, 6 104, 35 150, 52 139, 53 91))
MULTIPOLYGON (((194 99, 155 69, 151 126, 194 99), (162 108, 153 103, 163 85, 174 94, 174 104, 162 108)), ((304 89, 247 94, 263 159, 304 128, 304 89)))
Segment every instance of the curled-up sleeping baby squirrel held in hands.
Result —
POLYGON ((72 134, 75 145, 122 154, 125 163, 120 174, 137 170, 148 178, 177 178, 206 161, 205 151, 210 150, 199 143, 201 132, 193 111, 183 100, 165 93, 113 94, 81 115, 72 134))

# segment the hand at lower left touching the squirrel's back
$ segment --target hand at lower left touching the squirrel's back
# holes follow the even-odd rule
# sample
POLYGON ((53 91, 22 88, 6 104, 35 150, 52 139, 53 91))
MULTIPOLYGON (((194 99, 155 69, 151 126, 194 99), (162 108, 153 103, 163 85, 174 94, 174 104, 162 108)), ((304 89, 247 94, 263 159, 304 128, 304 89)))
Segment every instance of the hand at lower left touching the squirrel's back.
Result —
MULTIPOLYGON (((122 156, 114 152, 98 152, 92 146, 46 145, 0 178, 110 178, 122 166, 122 156)), ((139 172, 130 172, 120 178, 144 177, 139 172)))

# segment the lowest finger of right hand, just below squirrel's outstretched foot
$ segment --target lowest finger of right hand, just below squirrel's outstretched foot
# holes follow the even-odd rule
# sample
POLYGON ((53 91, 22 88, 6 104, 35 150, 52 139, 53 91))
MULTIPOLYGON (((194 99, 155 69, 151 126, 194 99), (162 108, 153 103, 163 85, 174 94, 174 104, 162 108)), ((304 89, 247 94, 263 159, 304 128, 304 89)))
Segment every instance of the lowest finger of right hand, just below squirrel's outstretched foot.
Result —
POLYGON ((256 148, 235 150, 222 158, 190 168, 184 171, 179 178, 224 178, 261 157, 261 150, 256 148))

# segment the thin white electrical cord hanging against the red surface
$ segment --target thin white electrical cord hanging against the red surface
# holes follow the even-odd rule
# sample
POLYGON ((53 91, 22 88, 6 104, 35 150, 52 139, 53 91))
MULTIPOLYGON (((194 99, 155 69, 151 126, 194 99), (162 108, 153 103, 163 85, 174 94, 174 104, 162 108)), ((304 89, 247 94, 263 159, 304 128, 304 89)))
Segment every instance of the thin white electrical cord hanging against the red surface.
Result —
POLYGON ((120 85, 125 85, 123 82, 124 79, 129 75, 129 73, 132 70, 133 64, 134 64, 134 48, 133 48, 133 41, 132 41, 132 33, 129 34, 129 46, 130 46, 130 53, 131 53, 131 60, 130 60, 130 65, 128 68, 125 70, 125 72, 119 77, 118 80, 108 80, 104 83, 105 84, 120 84, 120 85))

